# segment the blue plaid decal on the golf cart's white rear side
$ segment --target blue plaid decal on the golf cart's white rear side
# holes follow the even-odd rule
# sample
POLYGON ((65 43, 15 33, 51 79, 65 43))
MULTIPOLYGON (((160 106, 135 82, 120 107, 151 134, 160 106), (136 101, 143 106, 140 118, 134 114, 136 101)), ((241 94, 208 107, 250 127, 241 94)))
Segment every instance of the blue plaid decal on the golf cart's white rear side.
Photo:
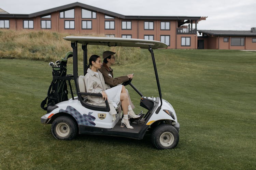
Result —
POLYGON ((89 112, 88 115, 81 114, 74 107, 67 106, 66 110, 60 109, 59 112, 68 113, 72 115, 79 125, 95 126, 95 117, 91 116, 93 112, 89 112))

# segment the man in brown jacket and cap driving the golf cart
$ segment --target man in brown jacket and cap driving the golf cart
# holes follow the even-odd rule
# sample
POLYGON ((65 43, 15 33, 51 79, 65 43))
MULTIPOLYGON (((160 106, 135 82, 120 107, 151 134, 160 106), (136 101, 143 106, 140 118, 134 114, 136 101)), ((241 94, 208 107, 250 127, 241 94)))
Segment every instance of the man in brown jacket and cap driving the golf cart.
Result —
MULTIPOLYGON (((104 77, 105 84, 109 86, 107 88, 117 86, 118 84, 122 84, 123 82, 126 82, 129 79, 133 78, 133 74, 128 74, 128 75, 114 78, 113 69, 111 68, 111 66, 115 63, 114 54, 115 52, 112 52, 112 51, 104 51, 102 54, 103 65, 99 70, 104 77)), ((135 115, 134 112, 132 111, 132 109, 134 108, 134 105, 131 102, 127 89, 126 89, 126 92, 128 94, 128 98, 130 102, 130 105, 128 106, 128 115, 131 116, 132 118, 139 118, 139 116, 135 115)))

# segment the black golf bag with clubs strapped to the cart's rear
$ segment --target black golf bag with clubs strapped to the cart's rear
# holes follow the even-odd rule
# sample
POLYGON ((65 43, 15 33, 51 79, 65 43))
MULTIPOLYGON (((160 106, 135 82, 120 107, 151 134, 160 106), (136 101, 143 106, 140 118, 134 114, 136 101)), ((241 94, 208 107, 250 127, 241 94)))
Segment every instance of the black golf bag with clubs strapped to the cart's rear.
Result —
POLYGON ((41 102, 41 108, 45 111, 47 111, 48 106, 54 106, 59 102, 68 100, 68 87, 65 76, 67 75, 67 61, 71 56, 73 56, 73 53, 68 52, 64 58, 56 61, 55 64, 53 62, 49 63, 53 68, 53 81, 49 86, 47 97, 41 102))

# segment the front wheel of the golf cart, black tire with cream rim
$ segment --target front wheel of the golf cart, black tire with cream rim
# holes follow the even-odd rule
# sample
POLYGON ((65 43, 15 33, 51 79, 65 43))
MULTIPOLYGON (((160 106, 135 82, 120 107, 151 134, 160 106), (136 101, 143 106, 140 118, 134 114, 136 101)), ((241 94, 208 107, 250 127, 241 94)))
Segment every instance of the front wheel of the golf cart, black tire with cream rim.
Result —
POLYGON ((160 124, 153 130, 151 141, 157 149, 173 149, 179 142, 179 132, 170 124, 160 124))

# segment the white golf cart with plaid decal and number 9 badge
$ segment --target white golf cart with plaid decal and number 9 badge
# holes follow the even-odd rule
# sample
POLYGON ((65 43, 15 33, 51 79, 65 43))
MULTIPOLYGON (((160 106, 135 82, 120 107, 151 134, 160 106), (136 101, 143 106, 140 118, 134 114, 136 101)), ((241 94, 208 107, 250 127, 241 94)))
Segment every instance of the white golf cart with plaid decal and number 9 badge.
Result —
POLYGON ((172 149, 179 142, 180 124, 177 121, 176 113, 170 103, 162 99, 160 84, 153 49, 167 48, 167 45, 159 41, 111 38, 111 37, 80 37, 67 36, 65 40, 71 41, 73 49, 73 75, 63 76, 61 80, 67 80, 72 98, 66 101, 47 106, 47 114, 41 117, 41 123, 52 124, 52 134, 61 140, 71 140, 78 134, 95 134, 119 136, 133 139, 143 139, 146 132, 151 133, 152 143, 157 149, 172 149), (83 49, 83 75, 78 75, 77 48, 82 45, 83 49), (146 114, 141 113, 139 120, 130 119, 134 129, 120 127, 121 113, 116 114, 113 121, 109 114, 108 101, 106 106, 90 105, 86 101, 87 96, 102 97, 101 94, 87 93, 84 83, 84 75, 87 68, 87 46, 122 46, 140 47, 150 51, 159 97, 145 97, 132 83, 131 80, 123 85, 130 85, 140 96, 140 106, 147 110, 146 114), (72 82, 73 81, 73 85, 72 82), (77 96, 74 96, 76 95, 77 96))

